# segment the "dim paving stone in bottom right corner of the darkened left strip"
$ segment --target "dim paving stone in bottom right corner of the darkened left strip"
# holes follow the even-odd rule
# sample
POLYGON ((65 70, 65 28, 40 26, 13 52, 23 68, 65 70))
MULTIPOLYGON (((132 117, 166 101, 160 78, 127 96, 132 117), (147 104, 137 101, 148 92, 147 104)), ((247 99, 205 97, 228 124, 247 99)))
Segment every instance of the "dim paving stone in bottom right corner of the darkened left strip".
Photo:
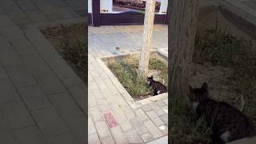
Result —
POLYGON ((86 130, 88 127, 86 126, 86 116, 77 116, 65 118, 66 126, 69 128, 71 134, 74 135, 74 138, 78 143, 84 144, 86 143, 86 130))

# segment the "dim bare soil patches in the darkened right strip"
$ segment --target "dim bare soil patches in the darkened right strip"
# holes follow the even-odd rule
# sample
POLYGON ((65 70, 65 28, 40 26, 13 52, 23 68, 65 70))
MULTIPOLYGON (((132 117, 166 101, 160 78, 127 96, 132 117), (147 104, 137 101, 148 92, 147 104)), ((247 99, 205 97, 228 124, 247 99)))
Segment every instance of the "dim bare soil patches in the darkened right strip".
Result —
MULTIPOLYGON (((255 38, 250 37, 244 31, 245 25, 234 23, 236 18, 226 19, 229 14, 226 11, 218 10, 214 7, 207 7, 199 12, 198 33, 214 26, 218 22, 218 26, 222 26, 237 38, 251 40, 255 46, 255 38), (232 23, 233 22, 233 23, 232 23)), ((206 64, 194 64, 193 76, 190 85, 194 87, 202 86, 202 82, 207 82, 209 85, 210 96, 214 99, 229 102, 231 105, 240 108, 241 94, 237 93, 234 87, 233 79, 234 70, 223 66, 212 66, 206 64)))

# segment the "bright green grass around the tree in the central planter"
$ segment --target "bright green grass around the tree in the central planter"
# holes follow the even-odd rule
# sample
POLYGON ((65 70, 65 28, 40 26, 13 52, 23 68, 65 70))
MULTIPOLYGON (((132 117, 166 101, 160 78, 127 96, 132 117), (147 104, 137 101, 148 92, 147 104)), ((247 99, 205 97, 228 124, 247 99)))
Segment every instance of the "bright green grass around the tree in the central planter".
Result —
MULTIPOLYGON (((125 61, 119 60, 117 62, 111 62, 108 65, 108 67, 116 75, 119 82, 122 83, 122 86, 126 88, 128 93, 132 97, 138 98, 139 96, 147 96, 147 95, 154 94, 154 91, 152 90, 152 88, 147 86, 146 79, 139 77, 137 73, 136 68, 138 68, 138 61, 125 62, 125 61)), ((157 59, 150 59, 150 69, 164 70, 164 68, 166 68, 167 70, 167 65, 162 61, 157 59), (161 66, 158 66, 158 64, 161 66)), ((164 74, 167 75, 167 72, 162 73, 161 75, 164 75, 164 74)))

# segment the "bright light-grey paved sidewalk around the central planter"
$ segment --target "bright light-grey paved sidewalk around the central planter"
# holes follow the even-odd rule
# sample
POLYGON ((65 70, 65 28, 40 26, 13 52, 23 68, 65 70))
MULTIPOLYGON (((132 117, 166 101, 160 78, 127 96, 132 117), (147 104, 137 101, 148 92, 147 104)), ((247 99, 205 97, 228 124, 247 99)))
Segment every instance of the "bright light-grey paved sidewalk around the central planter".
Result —
MULTIPOLYGON (((110 71, 99 60, 102 56, 130 54, 141 50, 142 30, 143 26, 89 27, 90 143, 144 143, 168 134, 167 98, 131 108, 124 98, 124 88, 111 80, 110 71), (120 50, 116 50, 116 47, 120 50), (107 113, 113 114, 118 123, 114 128, 107 126, 104 117, 107 113)), ((168 47, 167 31, 167 26, 154 26, 154 50, 168 47)))

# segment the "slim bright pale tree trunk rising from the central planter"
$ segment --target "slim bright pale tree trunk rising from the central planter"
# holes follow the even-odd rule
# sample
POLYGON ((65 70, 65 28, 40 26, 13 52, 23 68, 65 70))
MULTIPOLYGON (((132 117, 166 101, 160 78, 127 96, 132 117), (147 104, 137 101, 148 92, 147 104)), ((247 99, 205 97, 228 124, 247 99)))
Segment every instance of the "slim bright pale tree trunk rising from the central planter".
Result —
POLYGON ((146 77, 146 72, 150 61, 150 50, 152 43, 152 33, 154 26, 154 8, 155 0, 146 1, 145 19, 144 19, 144 31, 142 42, 142 54, 138 63, 138 74, 142 77, 146 77))

